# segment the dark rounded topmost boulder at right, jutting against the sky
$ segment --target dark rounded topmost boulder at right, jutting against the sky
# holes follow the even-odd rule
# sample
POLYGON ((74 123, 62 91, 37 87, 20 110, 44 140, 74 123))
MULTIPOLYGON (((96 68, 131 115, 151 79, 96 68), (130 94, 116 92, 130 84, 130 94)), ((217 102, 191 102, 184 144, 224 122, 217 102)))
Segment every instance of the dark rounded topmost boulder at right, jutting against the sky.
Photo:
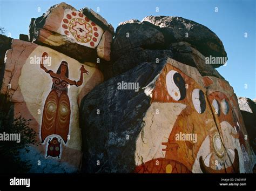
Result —
MULTIPOLYGON (((205 57, 227 57, 221 40, 204 25, 182 17, 170 16, 148 16, 142 22, 149 22, 159 27, 164 34, 166 44, 187 42, 205 57)), ((216 68, 221 64, 212 64, 212 66, 216 68)))

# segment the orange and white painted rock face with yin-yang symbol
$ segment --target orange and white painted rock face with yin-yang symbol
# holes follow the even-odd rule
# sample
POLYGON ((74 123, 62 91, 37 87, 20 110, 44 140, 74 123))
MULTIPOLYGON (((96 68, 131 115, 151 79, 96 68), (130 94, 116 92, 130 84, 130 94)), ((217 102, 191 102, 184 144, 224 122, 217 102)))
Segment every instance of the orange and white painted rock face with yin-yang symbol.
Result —
POLYGON ((136 142, 135 172, 248 172, 244 124, 233 109, 231 89, 225 80, 201 77, 193 67, 167 64, 136 142))

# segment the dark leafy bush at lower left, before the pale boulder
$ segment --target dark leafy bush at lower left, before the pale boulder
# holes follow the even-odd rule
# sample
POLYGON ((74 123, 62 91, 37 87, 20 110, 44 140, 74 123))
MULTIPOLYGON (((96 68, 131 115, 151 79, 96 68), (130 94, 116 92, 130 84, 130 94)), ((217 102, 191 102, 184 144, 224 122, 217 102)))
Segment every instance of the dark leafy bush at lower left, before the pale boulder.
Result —
MULTIPOLYGON (((12 115, 11 115, 12 116, 12 115)), ((26 173, 30 169, 28 161, 22 161, 19 151, 36 144, 36 132, 29 127, 29 121, 22 117, 13 119, 0 110, 0 133, 20 133, 21 142, 0 141, 0 173, 26 173)))

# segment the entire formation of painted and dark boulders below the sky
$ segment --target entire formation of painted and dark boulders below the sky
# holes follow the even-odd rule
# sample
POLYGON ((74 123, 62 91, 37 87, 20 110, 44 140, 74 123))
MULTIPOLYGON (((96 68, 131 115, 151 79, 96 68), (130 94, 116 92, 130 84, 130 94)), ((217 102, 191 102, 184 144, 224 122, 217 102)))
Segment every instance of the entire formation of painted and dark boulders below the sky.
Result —
POLYGON ((31 173, 253 172, 255 103, 215 70, 227 54, 206 26, 149 16, 114 32, 60 3, 0 37, 1 93, 39 142, 20 153, 31 173))

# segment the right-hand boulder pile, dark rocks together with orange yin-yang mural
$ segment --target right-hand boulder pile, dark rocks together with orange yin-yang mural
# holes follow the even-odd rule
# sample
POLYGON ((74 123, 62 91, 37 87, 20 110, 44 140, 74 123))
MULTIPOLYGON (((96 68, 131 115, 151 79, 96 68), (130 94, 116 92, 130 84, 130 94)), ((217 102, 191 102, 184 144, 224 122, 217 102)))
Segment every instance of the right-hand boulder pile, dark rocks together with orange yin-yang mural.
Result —
POLYGON ((113 77, 80 107, 83 172, 252 172, 237 97, 215 70, 227 60, 215 33, 149 16, 120 23, 111 47, 113 77))

